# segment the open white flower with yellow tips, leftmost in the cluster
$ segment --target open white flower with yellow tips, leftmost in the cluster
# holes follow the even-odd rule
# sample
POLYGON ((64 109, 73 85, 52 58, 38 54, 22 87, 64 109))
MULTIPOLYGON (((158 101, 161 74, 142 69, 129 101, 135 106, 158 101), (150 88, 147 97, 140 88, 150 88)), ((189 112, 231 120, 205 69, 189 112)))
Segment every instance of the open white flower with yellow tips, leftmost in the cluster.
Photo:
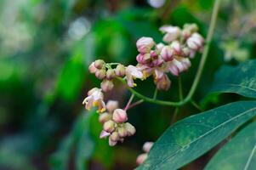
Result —
POLYGON ((88 97, 82 101, 82 105, 85 105, 87 110, 90 110, 93 106, 98 106, 99 112, 105 111, 105 103, 101 89, 93 88, 88 91, 88 97))

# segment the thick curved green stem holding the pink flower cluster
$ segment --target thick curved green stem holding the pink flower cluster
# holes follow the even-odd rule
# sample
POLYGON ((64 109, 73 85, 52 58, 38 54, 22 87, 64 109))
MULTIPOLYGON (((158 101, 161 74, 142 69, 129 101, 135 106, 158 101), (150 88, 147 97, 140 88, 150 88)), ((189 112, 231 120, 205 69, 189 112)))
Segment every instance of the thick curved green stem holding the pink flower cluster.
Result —
MULTIPOLYGON (((209 27, 209 31, 208 31, 208 36, 207 36, 207 39, 206 39, 205 47, 204 47, 203 52, 202 52, 202 58, 200 60, 200 64, 199 64, 197 72, 196 72, 195 80, 192 83, 191 90, 189 91, 189 93, 187 94, 185 99, 182 99, 178 102, 163 101, 163 100, 159 100, 159 99, 148 98, 143 94, 139 94, 137 91, 135 91, 133 88, 130 88, 130 87, 128 87, 128 90, 131 91, 131 93, 133 93, 138 98, 144 99, 147 102, 154 103, 154 104, 157 104, 157 105, 180 106, 180 105, 185 105, 187 102, 191 101, 191 98, 195 94, 197 85, 198 85, 198 83, 200 81, 200 78, 202 76, 202 71, 203 71, 203 67, 205 65, 206 59, 208 58, 209 45, 210 45, 210 42, 212 41, 212 38, 213 38, 213 31, 214 31, 214 27, 216 25, 218 12, 219 12, 219 4, 220 4, 220 0, 215 0, 214 7, 213 7, 213 14, 212 14, 210 27, 209 27)), ((118 79, 121 80, 122 82, 124 82, 125 84, 127 84, 122 78, 118 78, 118 79)))

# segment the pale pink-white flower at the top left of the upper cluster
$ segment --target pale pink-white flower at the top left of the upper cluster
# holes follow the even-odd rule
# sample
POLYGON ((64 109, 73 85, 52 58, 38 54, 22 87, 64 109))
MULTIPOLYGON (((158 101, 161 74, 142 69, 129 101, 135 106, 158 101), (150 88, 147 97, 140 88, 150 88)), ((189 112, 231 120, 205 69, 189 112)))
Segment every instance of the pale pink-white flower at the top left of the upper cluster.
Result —
POLYGON ((166 33, 162 38, 164 42, 172 42, 180 36, 180 29, 178 26, 162 26, 160 31, 166 33))

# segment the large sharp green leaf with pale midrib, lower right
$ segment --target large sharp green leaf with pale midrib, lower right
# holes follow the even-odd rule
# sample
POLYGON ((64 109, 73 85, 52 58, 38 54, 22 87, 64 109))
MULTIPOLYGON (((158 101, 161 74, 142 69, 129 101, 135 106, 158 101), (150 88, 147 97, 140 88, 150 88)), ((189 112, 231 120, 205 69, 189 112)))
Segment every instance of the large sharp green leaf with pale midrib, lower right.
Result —
POLYGON ((256 101, 240 101, 187 117, 168 127, 138 169, 183 167, 255 115, 256 101))

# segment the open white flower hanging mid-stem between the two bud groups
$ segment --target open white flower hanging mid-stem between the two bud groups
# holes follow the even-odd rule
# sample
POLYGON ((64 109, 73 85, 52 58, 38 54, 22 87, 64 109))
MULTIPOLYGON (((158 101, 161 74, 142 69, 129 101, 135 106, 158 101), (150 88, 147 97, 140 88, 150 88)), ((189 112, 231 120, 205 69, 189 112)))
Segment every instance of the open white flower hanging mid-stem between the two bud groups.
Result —
POLYGON ((134 83, 134 78, 143 78, 143 74, 137 67, 134 65, 128 65, 126 68, 126 77, 127 77, 127 82, 128 86, 131 88, 134 88, 136 84, 134 83))

